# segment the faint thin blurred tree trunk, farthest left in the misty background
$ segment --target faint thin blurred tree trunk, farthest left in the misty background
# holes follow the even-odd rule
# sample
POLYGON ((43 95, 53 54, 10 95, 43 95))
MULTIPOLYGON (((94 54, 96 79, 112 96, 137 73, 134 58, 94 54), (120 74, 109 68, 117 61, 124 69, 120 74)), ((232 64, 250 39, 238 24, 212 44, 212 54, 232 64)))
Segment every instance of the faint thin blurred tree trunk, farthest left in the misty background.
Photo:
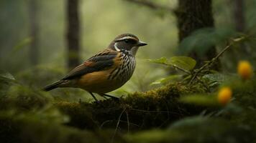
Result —
POLYGON ((30 37, 32 39, 29 49, 30 62, 33 66, 38 64, 38 19, 37 0, 29 0, 30 37))

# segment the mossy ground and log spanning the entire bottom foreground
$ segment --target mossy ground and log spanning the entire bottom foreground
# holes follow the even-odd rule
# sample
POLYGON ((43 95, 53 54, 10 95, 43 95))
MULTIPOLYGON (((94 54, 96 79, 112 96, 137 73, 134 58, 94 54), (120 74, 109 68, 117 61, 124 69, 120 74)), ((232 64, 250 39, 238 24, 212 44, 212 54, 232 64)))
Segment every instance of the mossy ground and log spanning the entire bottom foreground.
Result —
POLYGON ((3 82, 0 142, 255 142, 255 83, 232 82, 232 104, 211 112, 180 102, 188 94, 205 94, 201 84, 173 83, 98 104, 53 99, 3 82))

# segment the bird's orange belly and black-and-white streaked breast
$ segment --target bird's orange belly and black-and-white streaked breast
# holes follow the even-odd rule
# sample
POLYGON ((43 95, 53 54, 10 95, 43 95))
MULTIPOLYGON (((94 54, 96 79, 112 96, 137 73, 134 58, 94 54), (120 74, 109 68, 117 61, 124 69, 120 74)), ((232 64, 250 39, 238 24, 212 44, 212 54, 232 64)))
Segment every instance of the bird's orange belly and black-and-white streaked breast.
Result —
POLYGON ((136 61, 134 56, 119 54, 113 59, 110 69, 94 71, 78 80, 78 85, 89 92, 106 93, 122 87, 134 72, 136 61))

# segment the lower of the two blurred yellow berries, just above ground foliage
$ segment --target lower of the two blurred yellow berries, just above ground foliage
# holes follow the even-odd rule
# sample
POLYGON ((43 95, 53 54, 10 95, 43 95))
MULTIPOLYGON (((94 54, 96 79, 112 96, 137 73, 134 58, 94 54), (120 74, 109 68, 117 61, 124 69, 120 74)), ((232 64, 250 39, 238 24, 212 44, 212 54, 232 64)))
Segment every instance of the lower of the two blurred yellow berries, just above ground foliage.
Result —
POLYGON ((220 104, 226 105, 227 103, 229 103, 231 97, 232 97, 232 90, 229 87, 222 87, 219 90, 218 101, 220 104))

